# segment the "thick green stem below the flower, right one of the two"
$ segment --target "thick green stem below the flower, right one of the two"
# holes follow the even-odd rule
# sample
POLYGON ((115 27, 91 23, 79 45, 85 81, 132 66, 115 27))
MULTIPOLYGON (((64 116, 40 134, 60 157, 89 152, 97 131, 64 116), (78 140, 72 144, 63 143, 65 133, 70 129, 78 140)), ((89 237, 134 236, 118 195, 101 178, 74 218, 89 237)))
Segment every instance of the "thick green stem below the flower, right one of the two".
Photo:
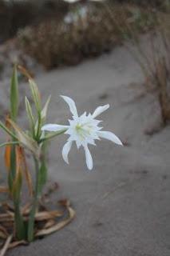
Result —
POLYGON ((38 207, 38 198, 39 198, 39 162, 37 158, 34 158, 35 170, 36 170, 36 183, 35 183, 35 191, 34 191, 34 202, 30 212, 30 218, 28 222, 28 242, 32 242, 34 240, 34 220, 35 214, 38 207))

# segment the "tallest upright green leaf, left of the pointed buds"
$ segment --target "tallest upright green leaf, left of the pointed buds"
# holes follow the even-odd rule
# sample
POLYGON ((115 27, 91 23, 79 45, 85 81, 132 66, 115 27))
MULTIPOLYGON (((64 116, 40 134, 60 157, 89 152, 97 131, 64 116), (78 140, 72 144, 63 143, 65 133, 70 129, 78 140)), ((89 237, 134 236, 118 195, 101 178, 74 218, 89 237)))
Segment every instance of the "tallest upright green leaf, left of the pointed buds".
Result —
POLYGON ((10 117, 16 121, 18 116, 18 104, 19 104, 19 97, 18 97, 18 72, 17 67, 14 65, 13 75, 11 78, 11 85, 10 85, 10 117))

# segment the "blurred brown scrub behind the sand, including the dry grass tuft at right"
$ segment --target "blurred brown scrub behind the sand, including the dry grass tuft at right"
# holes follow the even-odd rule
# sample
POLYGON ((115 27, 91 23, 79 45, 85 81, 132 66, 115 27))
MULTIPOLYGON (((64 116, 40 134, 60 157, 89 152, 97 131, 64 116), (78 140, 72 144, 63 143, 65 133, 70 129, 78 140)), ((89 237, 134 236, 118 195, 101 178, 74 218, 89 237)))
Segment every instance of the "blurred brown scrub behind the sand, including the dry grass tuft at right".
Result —
POLYGON ((169 10, 169 0, 1 0, 0 79, 10 78, 14 62, 36 76, 124 45, 144 74, 146 90, 156 88, 165 123, 169 10))

